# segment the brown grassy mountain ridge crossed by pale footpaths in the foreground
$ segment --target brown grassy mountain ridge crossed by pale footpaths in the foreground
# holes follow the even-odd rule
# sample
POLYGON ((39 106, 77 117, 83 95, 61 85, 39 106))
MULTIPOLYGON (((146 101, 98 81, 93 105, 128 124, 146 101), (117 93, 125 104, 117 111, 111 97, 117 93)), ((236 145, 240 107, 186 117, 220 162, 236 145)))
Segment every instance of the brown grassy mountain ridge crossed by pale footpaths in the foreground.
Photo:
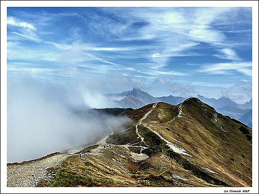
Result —
MULTIPOLYGON (((200 99, 104 112, 130 122, 82 149, 82 158, 65 155, 38 187, 252 187, 252 129, 200 99)), ((11 165, 15 185, 13 176, 26 176, 13 169, 33 162, 11 165)))

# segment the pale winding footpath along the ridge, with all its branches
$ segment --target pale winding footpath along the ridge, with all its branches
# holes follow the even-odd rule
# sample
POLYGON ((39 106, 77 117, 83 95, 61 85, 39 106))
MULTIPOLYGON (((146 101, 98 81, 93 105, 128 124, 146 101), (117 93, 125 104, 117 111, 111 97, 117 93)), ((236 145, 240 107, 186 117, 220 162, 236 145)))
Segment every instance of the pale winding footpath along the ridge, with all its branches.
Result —
MULTIPOLYGON (((146 123, 143 123, 143 120, 153 111, 153 109, 156 107, 157 103, 158 102, 154 103, 151 110, 149 110, 147 113, 145 113, 144 116, 135 125, 135 132, 138 135, 138 138, 141 139, 141 142, 145 143, 144 137, 142 137, 138 133, 138 128, 137 128, 138 125, 142 124, 146 128, 148 128, 150 131, 152 131, 153 133, 158 135, 162 140, 164 140, 167 143, 167 145, 170 147, 170 149, 172 149, 174 152, 184 154, 184 155, 187 155, 187 156, 191 156, 191 155, 185 153, 184 149, 177 147, 176 145, 172 144, 170 141, 167 141, 166 139, 164 139, 159 134, 159 132, 152 130, 146 123)), ((170 120, 168 122, 171 122, 171 121, 175 120, 181 114, 182 114, 182 106, 180 105, 179 106, 179 114, 175 118, 173 118, 172 120, 170 120)), ((95 149, 92 149, 91 152, 87 153, 87 154, 102 155, 103 149, 106 149, 106 145, 108 145, 106 143, 107 138, 108 138, 108 136, 101 139, 97 143, 97 144, 99 144, 99 146, 95 149)), ((110 144, 108 146, 116 146, 116 145, 110 144)), ((127 145, 121 145, 121 146, 126 147, 128 150, 129 150, 129 147, 138 147, 138 148, 141 149, 139 154, 131 152, 129 150, 130 153, 131 153, 131 157, 135 161, 145 160, 145 159, 148 158, 148 156, 146 154, 142 154, 142 150, 148 148, 148 146, 147 147, 136 146, 134 144, 131 144, 131 145, 127 144, 127 145)), ((48 173, 49 172, 48 169, 52 168, 52 167, 59 166, 67 157, 69 157, 71 155, 79 155, 79 154, 62 154, 62 153, 60 153, 60 154, 56 154, 56 155, 46 157, 44 159, 39 159, 39 160, 35 160, 35 161, 28 161, 25 164, 7 165, 7 187, 36 187, 37 184, 39 184, 43 180, 51 180, 52 175, 50 175, 48 173)), ((159 175, 166 172, 167 170, 168 169, 159 173, 159 175)))

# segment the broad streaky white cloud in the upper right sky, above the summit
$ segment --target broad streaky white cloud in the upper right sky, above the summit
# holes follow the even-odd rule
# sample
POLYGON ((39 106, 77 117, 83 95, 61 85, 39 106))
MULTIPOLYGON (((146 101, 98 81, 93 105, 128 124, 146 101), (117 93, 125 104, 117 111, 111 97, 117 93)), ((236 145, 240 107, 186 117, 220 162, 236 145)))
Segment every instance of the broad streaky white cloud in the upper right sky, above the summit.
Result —
MULTIPOLYGON (((147 50, 152 51, 149 56, 144 56, 154 62, 153 69, 159 69, 166 65, 170 57, 176 56, 196 56, 197 53, 189 52, 194 49, 199 42, 211 44, 218 49, 225 45, 226 37, 222 30, 215 28, 216 22, 223 24, 226 22, 226 14, 231 8, 228 7, 202 7, 202 8, 178 8, 178 7, 146 7, 128 9, 125 11, 116 9, 113 13, 118 17, 125 18, 122 28, 116 28, 112 23, 112 33, 119 35, 118 40, 149 40, 156 42, 155 46, 150 44, 145 46, 147 50), (152 12, 152 14, 150 14, 152 12), (131 21, 144 21, 146 25, 141 27, 134 36, 128 33, 124 34, 131 21), (112 27, 113 26, 113 27, 112 27), (118 31, 117 31, 118 30, 118 31)), ((110 9, 107 9, 110 10, 110 9)), ((119 24, 120 25, 120 24, 119 24)), ((230 44, 230 43, 228 43, 230 44)), ((218 57, 225 59, 239 58, 234 50, 221 50, 222 55, 218 57)), ((137 55, 137 51, 135 52, 137 55)), ((220 73, 220 72, 219 72, 220 73)))

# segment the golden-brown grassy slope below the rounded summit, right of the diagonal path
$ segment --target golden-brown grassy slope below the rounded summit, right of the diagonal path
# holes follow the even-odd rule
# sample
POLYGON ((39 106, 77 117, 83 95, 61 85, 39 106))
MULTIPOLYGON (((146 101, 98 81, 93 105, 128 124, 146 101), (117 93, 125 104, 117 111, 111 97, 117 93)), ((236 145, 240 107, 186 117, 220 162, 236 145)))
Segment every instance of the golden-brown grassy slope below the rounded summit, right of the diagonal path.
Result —
MULTIPOLYGON (((152 129, 159 131, 167 140, 177 142, 178 146, 193 156, 182 156, 183 158, 217 172, 218 174, 212 174, 213 177, 220 180, 224 178, 228 185, 251 187, 252 144, 239 130, 242 124, 219 113, 217 113, 217 122, 214 123, 211 120, 214 108, 204 103, 194 105, 200 103, 199 100, 194 100, 182 104, 182 117, 177 117, 166 124, 168 116, 163 114, 164 116, 157 121, 152 121, 158 122, 158 124, 152 124, 152 129)), ((152 114, 158 115, 157 112, 163 112, 165 107, 167 112, 173 108, 169 104, 159 103, 152 114)), ((250 128, 248 130, 252 135, 252 130, 250 128)))

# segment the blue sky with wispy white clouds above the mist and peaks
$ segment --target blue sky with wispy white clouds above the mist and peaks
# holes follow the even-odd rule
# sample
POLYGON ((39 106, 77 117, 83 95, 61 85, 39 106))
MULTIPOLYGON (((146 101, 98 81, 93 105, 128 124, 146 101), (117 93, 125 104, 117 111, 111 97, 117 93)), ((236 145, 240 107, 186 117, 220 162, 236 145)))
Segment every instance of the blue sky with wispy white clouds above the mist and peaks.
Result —
POLYGON ((7 82, 252 98, 252 7, 7 7, 7 82))

